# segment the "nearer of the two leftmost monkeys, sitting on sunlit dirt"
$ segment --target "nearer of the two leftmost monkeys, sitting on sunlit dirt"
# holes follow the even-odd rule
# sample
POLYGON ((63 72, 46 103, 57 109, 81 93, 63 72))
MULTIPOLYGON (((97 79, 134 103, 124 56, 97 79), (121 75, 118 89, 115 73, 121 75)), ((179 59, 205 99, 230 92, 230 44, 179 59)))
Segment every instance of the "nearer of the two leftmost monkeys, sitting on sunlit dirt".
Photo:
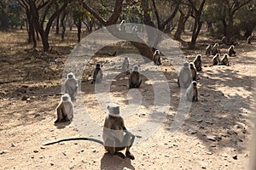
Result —
POLYGON ((71 122, 73 119, 73 103, 70 100, 69 94, 63 94, 61 96, 61 102, 56 108, 57 122, 71 122))

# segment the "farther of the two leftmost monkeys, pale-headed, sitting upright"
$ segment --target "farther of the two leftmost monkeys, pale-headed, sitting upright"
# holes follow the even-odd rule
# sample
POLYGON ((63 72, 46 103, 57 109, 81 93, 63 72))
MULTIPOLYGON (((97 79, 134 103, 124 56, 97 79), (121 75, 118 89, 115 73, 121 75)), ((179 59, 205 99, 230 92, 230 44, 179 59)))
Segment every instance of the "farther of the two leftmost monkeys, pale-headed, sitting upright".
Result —
POLYGON ((71 101, 75 99, 75 96, 78 92, 79 84, 76 80, 73 72, 67 74, 67 80, 64 83, 65 86, 65 94, 69 94, 71 101))

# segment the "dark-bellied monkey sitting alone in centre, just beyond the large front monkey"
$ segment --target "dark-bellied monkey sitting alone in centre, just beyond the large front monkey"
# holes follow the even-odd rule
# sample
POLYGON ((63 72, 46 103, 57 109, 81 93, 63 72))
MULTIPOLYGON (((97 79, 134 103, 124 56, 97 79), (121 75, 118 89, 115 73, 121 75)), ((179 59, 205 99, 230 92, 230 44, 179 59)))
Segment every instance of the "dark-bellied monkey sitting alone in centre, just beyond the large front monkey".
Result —
POLYGON ((139 66, 134 65, 132 68, 131 76, 129 78, 129 88, 140 88, 143 80, 139 73, 139 66))

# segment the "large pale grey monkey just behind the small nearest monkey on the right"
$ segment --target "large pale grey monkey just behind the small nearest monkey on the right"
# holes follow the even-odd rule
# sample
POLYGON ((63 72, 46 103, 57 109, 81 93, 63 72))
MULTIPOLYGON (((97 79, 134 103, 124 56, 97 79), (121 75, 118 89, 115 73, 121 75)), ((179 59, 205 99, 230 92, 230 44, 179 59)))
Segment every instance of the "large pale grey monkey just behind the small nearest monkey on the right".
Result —
POLYGON ((185 62, 177 74, 177 86, 179 88, 188 88, 192 82, 192 75, 189 69, 189 62, 185 62))

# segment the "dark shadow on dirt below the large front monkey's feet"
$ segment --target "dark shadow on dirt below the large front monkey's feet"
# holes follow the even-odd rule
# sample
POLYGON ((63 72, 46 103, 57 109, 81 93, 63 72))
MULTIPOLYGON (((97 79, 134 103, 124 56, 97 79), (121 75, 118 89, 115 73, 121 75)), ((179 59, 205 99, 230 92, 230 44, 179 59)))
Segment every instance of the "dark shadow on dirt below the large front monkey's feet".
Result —
POLYGON ((123 170, 125 168, 135 169, 131 165, 131 159, 125 157, 125 159, 120 158, 119 156, 111 156, 108 153, 105 153, 101 160, 101 169, 102 170, 123 170))

